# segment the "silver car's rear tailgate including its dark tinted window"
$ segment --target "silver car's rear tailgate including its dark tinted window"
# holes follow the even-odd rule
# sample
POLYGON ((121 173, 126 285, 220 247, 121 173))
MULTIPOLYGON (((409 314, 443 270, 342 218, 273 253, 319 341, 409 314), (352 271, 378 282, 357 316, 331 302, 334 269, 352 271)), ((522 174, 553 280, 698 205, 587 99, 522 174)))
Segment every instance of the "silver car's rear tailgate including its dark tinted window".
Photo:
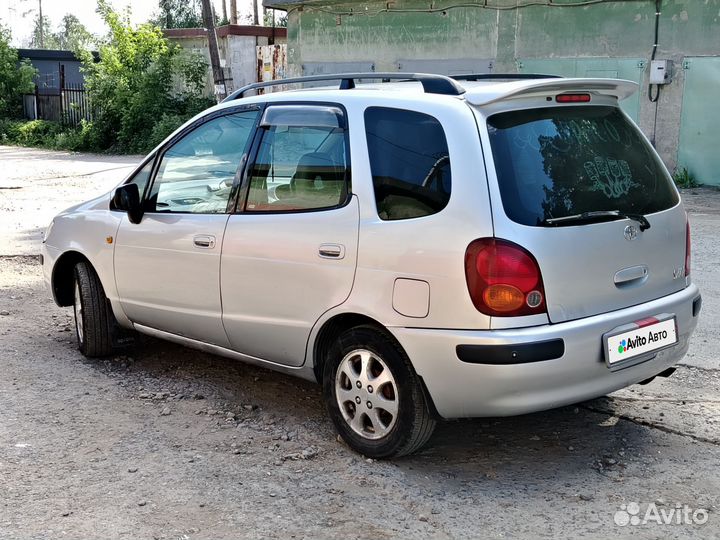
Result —
POLYGON ((591 103, 548 96, 486 116, 495 235, 537 259, 551 322, 686 286, 686 216, 667 170, 614 100, 577 95, 591 103))

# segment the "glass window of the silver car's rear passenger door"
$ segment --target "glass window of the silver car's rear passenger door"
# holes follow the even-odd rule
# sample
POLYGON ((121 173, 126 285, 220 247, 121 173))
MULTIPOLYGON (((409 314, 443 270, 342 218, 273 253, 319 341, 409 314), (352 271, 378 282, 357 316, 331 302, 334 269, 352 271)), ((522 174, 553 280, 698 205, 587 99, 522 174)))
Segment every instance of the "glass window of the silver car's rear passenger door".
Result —
POLYGON ((334 208, 348 196, 345 131, 269 126, 250 175, 246 212, 334 208))

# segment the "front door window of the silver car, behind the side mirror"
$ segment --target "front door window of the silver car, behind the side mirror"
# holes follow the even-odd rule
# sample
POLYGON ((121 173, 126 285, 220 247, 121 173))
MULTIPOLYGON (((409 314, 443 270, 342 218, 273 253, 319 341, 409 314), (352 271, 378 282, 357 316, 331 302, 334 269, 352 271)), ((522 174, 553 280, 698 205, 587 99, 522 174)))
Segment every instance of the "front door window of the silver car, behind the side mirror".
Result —
POLYGON ((146 201, 148 212, 221 214, 259 111, 208 120, 163 155, 146 201))

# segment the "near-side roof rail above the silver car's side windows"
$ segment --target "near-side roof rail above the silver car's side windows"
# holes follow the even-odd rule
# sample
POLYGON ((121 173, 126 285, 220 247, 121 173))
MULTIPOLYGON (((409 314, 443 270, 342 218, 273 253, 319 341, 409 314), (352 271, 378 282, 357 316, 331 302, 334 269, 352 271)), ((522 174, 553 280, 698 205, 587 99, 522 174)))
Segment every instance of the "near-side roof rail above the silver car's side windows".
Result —
POLYGON ((444 75, 435 75, 432 73, 334 73, 329 75, 310 75, 308 77, 296 77, 294 79, 279 79, 276 81, 257 82, 238 88, 228 97, 223 99, 233 101, 244 97, 245 92, 257 90, 259 88, 267 88, 269 86, 278 86, 281 84, 301 84, 307 82, 318 81, 340 81, 340 90, 350 90, 355 88, 356 80, 380 79, 382 82, 396 81, 418 81, 423 85, 426 94, 443 94, 447 96, 459 96, 465 93, 465 89, 455 80, 444 75))

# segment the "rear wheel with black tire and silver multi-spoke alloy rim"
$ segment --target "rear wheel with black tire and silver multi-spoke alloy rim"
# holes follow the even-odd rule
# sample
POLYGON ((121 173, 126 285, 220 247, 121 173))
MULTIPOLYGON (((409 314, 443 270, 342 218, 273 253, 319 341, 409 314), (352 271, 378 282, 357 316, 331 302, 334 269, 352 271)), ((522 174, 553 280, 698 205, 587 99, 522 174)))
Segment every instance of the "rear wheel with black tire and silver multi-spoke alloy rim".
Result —
POLYGON ((420 378, 407 355, 373 326, 346 330, 330 347, 323 368, 323 397, 340 436, 371 458, 411 454, 435 429, 420 378))

